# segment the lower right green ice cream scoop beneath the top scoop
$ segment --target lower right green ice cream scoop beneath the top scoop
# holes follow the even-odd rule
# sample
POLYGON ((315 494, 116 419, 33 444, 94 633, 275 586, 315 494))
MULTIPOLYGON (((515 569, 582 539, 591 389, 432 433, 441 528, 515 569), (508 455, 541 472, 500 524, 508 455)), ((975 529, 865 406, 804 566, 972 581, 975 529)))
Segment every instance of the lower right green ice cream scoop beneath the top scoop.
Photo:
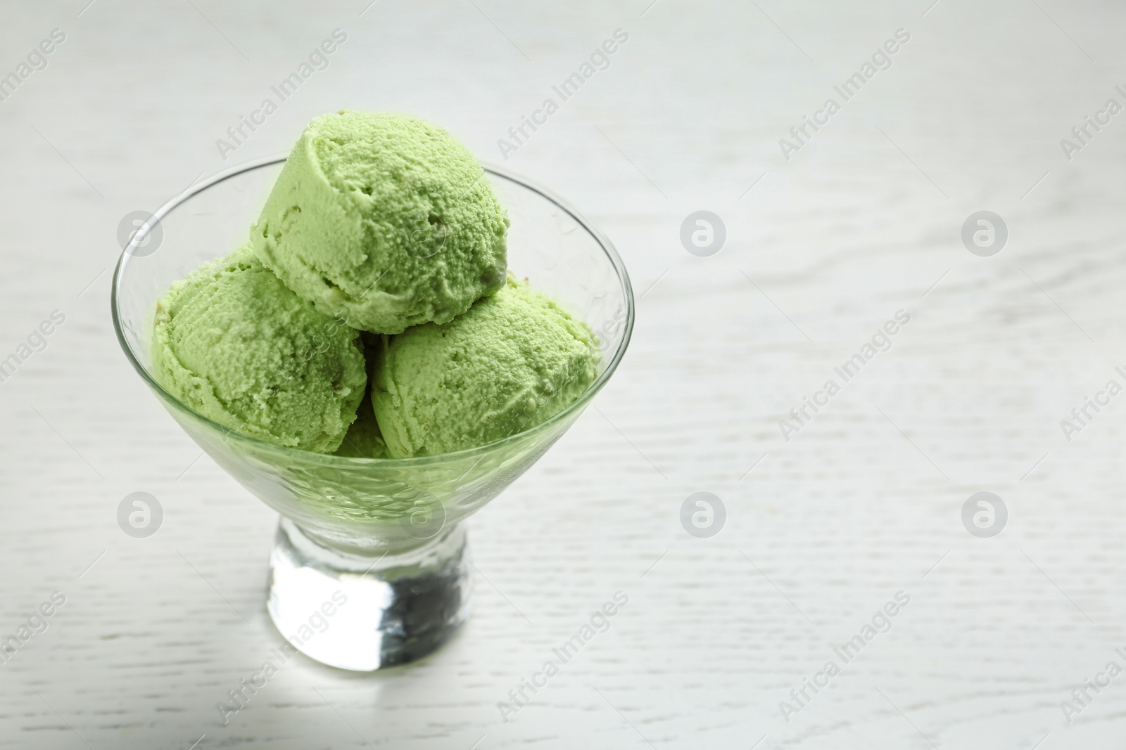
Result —
POLYGON ((566 408, 598 376, 590 328, 509 277, 452 322, 385 337, 372 378, 392 458, 484 445, 566 408))

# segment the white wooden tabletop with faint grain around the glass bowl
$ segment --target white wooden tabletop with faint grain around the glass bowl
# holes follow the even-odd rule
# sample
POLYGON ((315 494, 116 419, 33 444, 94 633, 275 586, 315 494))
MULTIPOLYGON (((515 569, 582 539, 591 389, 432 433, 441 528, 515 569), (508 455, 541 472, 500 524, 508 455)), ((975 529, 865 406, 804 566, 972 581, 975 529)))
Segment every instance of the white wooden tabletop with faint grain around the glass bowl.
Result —
POLYGON ((66 34, 0 102, 0 358, 66 316, 0 385, 0 631, 66 597, 0 666, 0 747, 1121 746, 1126 676, 1071 724, 1060 706, 1126 666, 1126 397, 1071 442, 1060 425, 1126 385, 1126 114, 1071 161, 1060 145, 1126 105, 1120 4, 87 1, 0 7, 0 73, 66 34), (216 138, 338 27, 329 69, 224 162, 216 138), (784 160, 778 139, 901 27, 893 66, 784 160), (501 161, 497 139, 616 28, 610 67, 504 163, 625 257, 622 368, 471 519, 456 641, 376 675, 295 659, 224 726, 215 703, 280 642, 276 517, 119 351, 118 222, 342 107, 425 116, 501 161), (678 237, 697 209, 726 224, 712 257, 678 237), (959 240, 981 209, 1009 227, 993 257, 959 240), (900 309, 892 350, 785 441, 779 419, 900 309), (144 540, 115 519, 138 490, 166 512, 144 540), (1009 508, 994 539, 962 525, 982 490, 1009 508), (712 539, 679 523, 696 491, 727 508, 712 539), (498 702, 617 590, 610 630, 503 722, 498 702), (891 632, 787 723, 779 702, 900 590, 891 632))

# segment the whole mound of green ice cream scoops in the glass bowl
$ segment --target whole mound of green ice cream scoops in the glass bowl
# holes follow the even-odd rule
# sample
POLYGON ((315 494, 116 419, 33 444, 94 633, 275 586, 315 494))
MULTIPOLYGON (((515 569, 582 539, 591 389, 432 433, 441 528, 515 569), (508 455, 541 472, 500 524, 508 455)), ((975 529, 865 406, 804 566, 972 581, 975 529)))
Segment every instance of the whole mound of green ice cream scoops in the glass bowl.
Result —
POLYGON ((319 117, 251 242, 158 304, 154 374, 232 430, 342 457, 434 455, 528 430, 591 386, 599 349, 558 302, 506 279, 507 228, 444 130, 319 117))

